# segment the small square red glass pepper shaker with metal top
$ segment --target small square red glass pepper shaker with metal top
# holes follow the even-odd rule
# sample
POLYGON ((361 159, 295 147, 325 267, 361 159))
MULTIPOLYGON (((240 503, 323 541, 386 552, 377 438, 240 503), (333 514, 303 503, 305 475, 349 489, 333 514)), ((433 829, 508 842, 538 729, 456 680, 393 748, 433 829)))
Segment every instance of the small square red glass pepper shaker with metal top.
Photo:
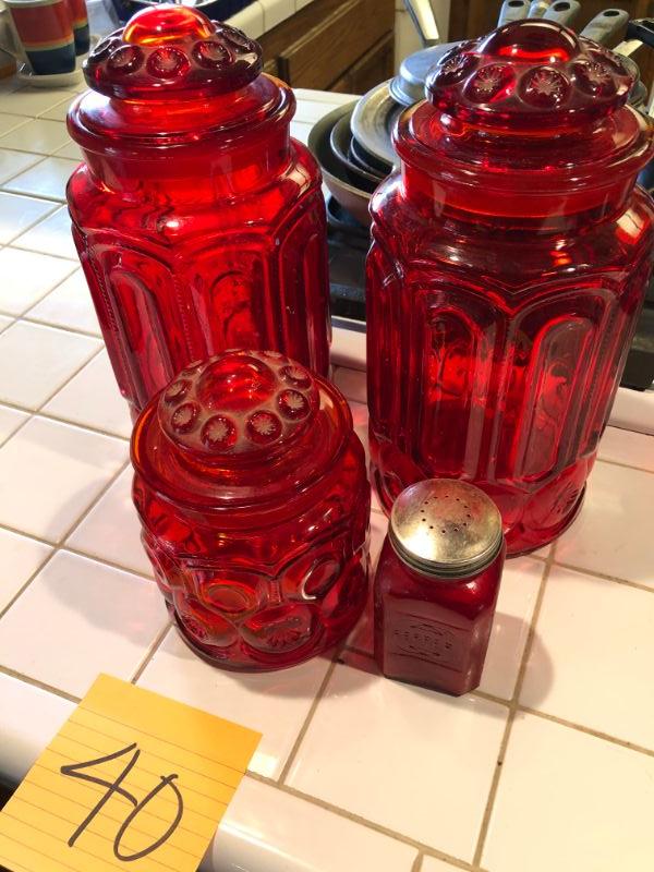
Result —
POLYGON ((375 576, 375 657, 388 678, 460 695, 477 687, 506 554, 479 487, 432 479, 396 499, 375 576))

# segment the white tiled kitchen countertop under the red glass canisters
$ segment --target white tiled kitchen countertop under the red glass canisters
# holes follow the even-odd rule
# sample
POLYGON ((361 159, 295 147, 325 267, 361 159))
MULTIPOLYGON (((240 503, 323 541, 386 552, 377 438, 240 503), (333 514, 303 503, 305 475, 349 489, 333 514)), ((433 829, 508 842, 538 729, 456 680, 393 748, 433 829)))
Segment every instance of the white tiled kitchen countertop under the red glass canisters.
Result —
MULTIPOLYGON (((607 429, 580 518, 507 566, 479 691, 380 678, 368 616, 332 657, 208 666, 138 541, 128 410, 62 205, 73 97, 0 85, 0 777, 107 671, 263 732, 207 872, 650 872, 652 395, 620 391, 628 428, 607 429)), ((299 97, 303 140, 349 99, 299 97)), ((362 342, 337 332, 334 377, 365 438, 362 342)), ((385 530, 377 504, 375 556, 385 530)))

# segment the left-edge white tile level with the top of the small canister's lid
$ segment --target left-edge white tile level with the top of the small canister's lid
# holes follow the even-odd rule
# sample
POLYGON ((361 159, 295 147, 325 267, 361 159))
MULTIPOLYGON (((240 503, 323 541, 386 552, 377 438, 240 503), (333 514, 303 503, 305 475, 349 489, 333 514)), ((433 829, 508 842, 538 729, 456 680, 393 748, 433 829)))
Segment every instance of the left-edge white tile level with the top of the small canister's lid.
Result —
POLYGON ((0 335, 0 400, 38 409, 99 348, 87 336, 16 322, 0 335))

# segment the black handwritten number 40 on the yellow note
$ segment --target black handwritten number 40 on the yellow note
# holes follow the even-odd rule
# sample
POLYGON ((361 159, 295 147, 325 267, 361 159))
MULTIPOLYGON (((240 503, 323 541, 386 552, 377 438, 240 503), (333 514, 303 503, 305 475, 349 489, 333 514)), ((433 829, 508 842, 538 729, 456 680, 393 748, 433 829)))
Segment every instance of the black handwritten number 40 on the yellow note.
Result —
POLYGON ((101 799, 98 801, 95 808, 92 809, 92 811, 89 811, 89 813, 82 821, 80 826, 75 829, 73 835, 69 838, 68 841, 69 847, 71 848, 73 847, 75 841, 86 829, 86 827, 90 824, 90 822, 100 813, 100 811, 107 804, 107 802, 109 802, 113 794, 118 794, 119 796, 123 797, 129 802, 131 802, 132 806, 134 806, 132 811, 128 814, 123 823, 120 825, 118 833, 116 834, 116 838, 113 839, 113 855, 119 860, 122 860, 124 862, 130 862, 132 860, 140 860, 142 857, 146 857, 148 853, 152 853, 153 851, 157 850, 157 848, 159 848, 174 833, 180 821, 182 820, 182 814, 184 813, 184 802, 182 800, 182 795, 180 794, 180 791, 177 788, 177 785, 174 784, 175 778, 178 778, 177 775, 159 776, 161 779, 159 784, 153 787, 149 794, 147 794, 147 796, 144 799, 142 799, 141 802, 138 802, 136 797, 130 794, 129 790, 125 790, 125 788, 121 786, 124 779, 130 774, 130 772, 136 765, 136 761, 138 760, 140 756, 141 756, 141 751, 138 750, 136 743, 134 742, 133 744, 123 748, 122 751, 116 751, 112 754, 107 754, 106 756, 99 756, 96 760, 87 760, 85 763, 71 763, 68 766, 61 767, 62 775, 68 775, 71 778, 80 778, 80 780, 82 782, 90 782, 92 784, 97 784, 100 787, 107 788, 107 792, 105 794, 105 796, 101 797, 101 799), (109 763, 111 760, 118 760, 119 758, 126 756, 130 753, 132 754, 130 761, 128 762, 121 774, 118 776, 118 778, 116 778, 116 780, 113 782, 108 782, 105 778, 98 778, 95 775, 89 775, 88 773, 83 772, 83 770, 88 770, 92 768, 93 766, 99 766, 101 763, 109 763), (174 795, 174 799, 177 801, 177 812, 172 823, 170 824, 168 829, 164 833, 164 835, 159 836, 159 838, 156 839, 156 841, 153 841, 152 845, 148 845, 143 850, 136 851, 134 853, 124 853, 121 850, 121 841, 123 836, 125 835, 125 833, 128 832, 134 820, 145 809, 147 803, 150 802, 162 790, 172 791, 174 795))

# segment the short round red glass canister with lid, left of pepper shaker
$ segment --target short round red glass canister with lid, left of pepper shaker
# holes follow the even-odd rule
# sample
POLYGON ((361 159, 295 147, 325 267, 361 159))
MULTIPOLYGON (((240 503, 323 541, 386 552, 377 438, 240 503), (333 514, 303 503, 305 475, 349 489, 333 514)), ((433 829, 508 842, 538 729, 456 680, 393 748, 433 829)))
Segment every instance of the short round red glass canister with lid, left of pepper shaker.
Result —
POLYGON ((184 370, 132 437, 134 501, 186 642, 216 665, 293 666, 366 600, 370 484, 346 399, 278 352, 184 370))

